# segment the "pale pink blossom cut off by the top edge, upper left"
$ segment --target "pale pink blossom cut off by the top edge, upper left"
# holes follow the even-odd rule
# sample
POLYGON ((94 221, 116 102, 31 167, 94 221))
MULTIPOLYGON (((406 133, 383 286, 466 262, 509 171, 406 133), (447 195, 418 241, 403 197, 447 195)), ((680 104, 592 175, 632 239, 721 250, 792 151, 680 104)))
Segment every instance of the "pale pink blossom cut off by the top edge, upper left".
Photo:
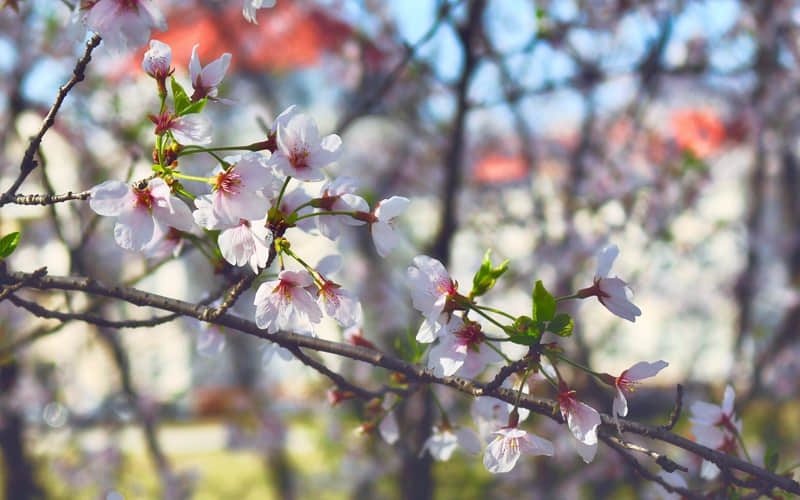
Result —
POLYGON ((164 15, 149 0, 82 0, 82 20, 112 50, 141 47, 150 30, 167 29, 164 15))

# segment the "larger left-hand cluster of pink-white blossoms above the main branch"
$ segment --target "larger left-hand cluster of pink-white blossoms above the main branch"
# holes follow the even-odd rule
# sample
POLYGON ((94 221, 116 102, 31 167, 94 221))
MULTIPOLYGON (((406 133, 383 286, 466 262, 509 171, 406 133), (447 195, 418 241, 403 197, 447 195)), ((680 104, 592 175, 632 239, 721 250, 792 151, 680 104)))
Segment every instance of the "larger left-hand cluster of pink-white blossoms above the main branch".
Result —
POLYGON ((370 210, 357 194, 356 179, 329 179, 325 168, 339 159, 342 141, 336 134, 321 135, 314 120, 296 106, 277 116, 266 140, 243 146, 242 154, 221 158, 208 177, 184 174, 184 156, 214 154, 213 148, 205 147, 212 142, 211 121, 200 113, 209 100, 220 100, 219 85, 230 54, 202 66, 195 46, 189 63, 191 95, 172 77, 171 55, 168 45, 153 40, 142 61, 145 73, 158 84, 162 103, 158 115, 151 115, 155 175, 133 185, 117 180, 96 185, 90 191, 90 207, 116 217, 114 239, 127 250, 148 255, 172 250, 177 255, 181 240, 191 239, 212 260, 217 255, 231 266, 248 266, 257 275, 279 256, 280 270, 272 278, 268 275, 255 294, 259 328, 308 330, 321 320, 323 311, 343 327, 359 323, 358 299, 326 278, 335 269, 308 266, 290 250, 285 233, 298 228, 336 239, 343 227, 368 225, 377 252, 386 256, 400 243, 394 222, 409 201, 392 196, 370 210), (191 181, 209 185, 210 192, 191 192, 191 181), (285 269, 284 255, 302 268, 285 269))

